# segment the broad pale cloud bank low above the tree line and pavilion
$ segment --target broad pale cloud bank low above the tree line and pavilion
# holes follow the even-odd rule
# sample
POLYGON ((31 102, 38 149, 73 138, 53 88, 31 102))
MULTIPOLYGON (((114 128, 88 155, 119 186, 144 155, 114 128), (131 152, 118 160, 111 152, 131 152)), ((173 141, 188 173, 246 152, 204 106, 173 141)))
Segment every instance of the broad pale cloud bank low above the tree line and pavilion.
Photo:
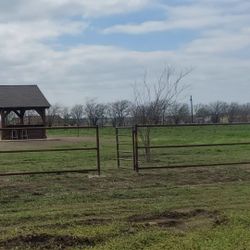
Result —
MULTIPOLYGON (((216 99, 247 101, 244 90, 250 82, 250 60, 228 60, 192 51, 138 52, 110 46, 81 45, 65 51, 46 46, 21 47, 19 54, 0 59, 0 79, 5 84, 39 83, 50 102, 84 103, 87 97, 100 101, 132 98, 132 85, 144 71, 160 73, 164 63, 179 68, 194 67, 185 79, 195 101, 216 99), (243 91, 242 91, 243 90, 243 91)), ((190 92, 190 93, 191 93, 190 92)), ((188 94, 188 93, 187 93, 188 94)))

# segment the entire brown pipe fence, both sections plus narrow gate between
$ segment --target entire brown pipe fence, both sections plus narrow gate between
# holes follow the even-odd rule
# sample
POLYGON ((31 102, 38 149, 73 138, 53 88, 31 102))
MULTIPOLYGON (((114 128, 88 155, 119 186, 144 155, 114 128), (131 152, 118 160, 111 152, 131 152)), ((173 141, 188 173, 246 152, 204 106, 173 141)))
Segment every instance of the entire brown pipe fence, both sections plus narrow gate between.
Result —
MULTIPOLYGON (((226 165, 244 165, 244 164, 250 164, 250 157, 248 158, 237 158, 237 160, 229 160, 226 161, 218 161, 218 162, 205 162, 202 161, 202 158, 199 158, 200 162, 197 164, 194 164, 193 162, 183 161, 176 164, 176 162, 171 164, 166 164, 165 166, 155 166, 153 164, 144 165, 144 162, 140 158, 140 152, 144 150, 146 151, 156 151, 157 154, 161 154, 161 150, 164 149, 192 149, 192 148, 215 148, 215 147, 240 147, 240 146, 247 146, 250 145, 250 141, 246 141, 245 138, 242 141, 233 141, 233 142, 217 142, 217 143, 158 143, 156 145, 151 145, 151 143, 142 144, 141 143, 141 131, 142 130, 150 130, 151 128, 155 128, 156 130, 160 128, 182 128, 182 127, 222 127, 222 126, 249 126, 250 129, 250 123, 222 123, 222 124, 181 124, 181 125, 135 125, 131 127, 116 127, 115 128, 115 139, 116 139, 116 160, 117 160, 117 167, 120 168, 122 165, 124 166, 125 162, 131 162, 131 168, 133 168, 135 171, 139 172, 140 170, 145 169, 163 169, 163 168, 189 168, 189 167, 209 167, 209 166, 226 166, 226 165), (122 164, 123 162, 123 164, 122 164)), ((22 154, 22 153, 43 153, 43 152, 73 152, 73 151, 80 151, 80 152, 96 152, 95 158, 96 158, 96 167, 95 168, 84 168, 84 169, 48 169, 47 171, 5 171, 0 172, 0 176, 12 176, 12 175, 35 175, 35 174, 53 174, 53 173, 87 173, 87 172, 97 172, 100 175, 100 136, 99 136, 99 127, 98 126, 92 126, 92 127, 86 127, 86 126, 79 126, 79 127, 17 127, 17 128, 0 128, 0 132, 6 131, 6 130, 37 130, 38 128, 45 129, 46 131, 55 131, 55 130, 76 130, 77 135, 79 136, 81 130, 90 129, 94 130, 95 132, 93 134, 93 141, 94 146, 71 146, 71 147, 62 147, 62 148, 43 148, 43 149, 16 149, 16 150, 0 150, 0 155, 3 154, 22 154)), ((246 128, 248 129, 248 127, 246 128)), ((195 131, 195 130, 194 130, 195 131)), ((211 130, 212 131, 212 130, 211 130)), ((210 131, 210 132, 211 132, 210 131)), ((234 129, 232 130, 234 132, 234 129)), ((212 133, 212 132, 211 132, 212 133)), ((60 134, 60 133, 59 133, 60 134)), ((162 136, 162 135, 160 135, 162 136)), ((163 134, 162 137, 165 137, 163 134)), ((237 138, 237 137, 235 137, 237 138)), ((161 138, 164 139, 164 138, 161 138)), ((28 138, 25 138, 24 140, 29 140, 28 138)), ((13 138, 12 141, 18 141, 17 139, 13 138)), ((170 152, 170 151, 169 151, 170 152)), ((156 155, 157 155, 156 154, 156 155)), ((13 156, 14 157, 14 156, 13 156)), ((164 161, 168 158, 166 158, 166 155, 161 160, 161 162, 164 163, 164 161), (165 157, 165 158, 164 158, 165 157)), ((167 156, 168 157, 168 156, 167 156)), ((0 159, 1 162, 1 159, 0 159)), ((177 161, 178 162, 178 161, 177 161)), ((128 166, 128 164, 127 164, 128 166)))

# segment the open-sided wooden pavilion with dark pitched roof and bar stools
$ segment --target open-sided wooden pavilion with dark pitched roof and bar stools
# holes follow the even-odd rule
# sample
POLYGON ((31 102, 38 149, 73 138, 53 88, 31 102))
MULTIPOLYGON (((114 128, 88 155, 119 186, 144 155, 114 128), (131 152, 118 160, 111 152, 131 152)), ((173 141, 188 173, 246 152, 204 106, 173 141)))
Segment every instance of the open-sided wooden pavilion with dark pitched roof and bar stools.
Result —
POLYGON ((0 85, 1 139, 46 138, 46 109, 50 107, 37 85, 0 85), (26 111, 36 111, 38 124, 25 124, 26 111), (14 113, 18 123, 8 124, 8 116, 14 113))

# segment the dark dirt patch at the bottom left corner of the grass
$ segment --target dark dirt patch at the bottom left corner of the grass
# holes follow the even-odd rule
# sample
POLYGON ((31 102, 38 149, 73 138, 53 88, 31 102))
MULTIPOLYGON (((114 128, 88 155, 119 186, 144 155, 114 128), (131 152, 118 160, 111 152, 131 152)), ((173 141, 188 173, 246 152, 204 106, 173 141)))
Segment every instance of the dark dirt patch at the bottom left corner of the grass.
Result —
POLYGON ((48 234, 18 236, 6 241, 0 241, 0 248, 2 249, 66 249, 69 247, 90 247, 94 245, 93 240, 88 238, 48 234))

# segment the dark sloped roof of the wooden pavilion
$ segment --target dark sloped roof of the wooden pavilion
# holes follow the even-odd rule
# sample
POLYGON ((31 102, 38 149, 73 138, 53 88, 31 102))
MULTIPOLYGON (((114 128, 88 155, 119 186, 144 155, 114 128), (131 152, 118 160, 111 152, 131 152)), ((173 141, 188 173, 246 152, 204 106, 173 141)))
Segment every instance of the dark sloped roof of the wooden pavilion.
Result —
POLYGON ((0 109, 49 107, 37 85, 0 85, 0 109))

